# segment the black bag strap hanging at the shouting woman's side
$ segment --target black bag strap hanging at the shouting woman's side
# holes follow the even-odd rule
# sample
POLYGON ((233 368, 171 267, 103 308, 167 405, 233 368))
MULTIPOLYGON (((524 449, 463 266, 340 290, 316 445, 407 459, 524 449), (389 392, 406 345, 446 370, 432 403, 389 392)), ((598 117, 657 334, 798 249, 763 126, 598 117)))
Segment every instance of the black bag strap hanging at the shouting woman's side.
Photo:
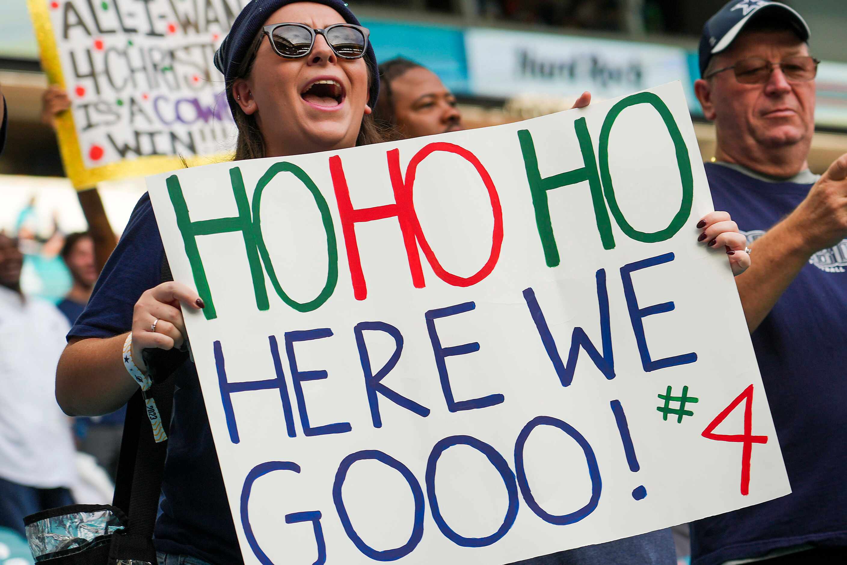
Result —
MULTIPOLYGON (((170 273, 168 258, 163 255, 160 281, 169 280, 174 280, 174 277, 170 273)), ((174 403, 174 377, 168 375, 167 379, 154 379, 147 396, 156 400, 163 429, 167 434, 174 403), (160 382, 155 382, 156 380, 160 382)), ((147 418, 147 405, 139 389, 127 403, 118 476, 112 501, 113 506, 119 507, 127 514, 129 526, 125 535, 112 536, 110 558, 157 562, 152 535, 167 453, 168 441, 157 443, 153 437, 152 426, 147 418)))

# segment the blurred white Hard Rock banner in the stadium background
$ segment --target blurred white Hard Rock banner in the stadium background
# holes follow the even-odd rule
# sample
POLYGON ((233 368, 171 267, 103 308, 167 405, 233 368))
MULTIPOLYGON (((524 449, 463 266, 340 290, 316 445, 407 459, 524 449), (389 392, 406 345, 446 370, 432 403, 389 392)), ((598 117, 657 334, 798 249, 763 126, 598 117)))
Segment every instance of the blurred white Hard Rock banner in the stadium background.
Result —
POLYGON ((471 91, 483 96, 565 97, 591 91, 595 97, 612 98, 683 80, 686 95, 695 100, 688 59, 678 47, 470 29, 465 49, 471 91))

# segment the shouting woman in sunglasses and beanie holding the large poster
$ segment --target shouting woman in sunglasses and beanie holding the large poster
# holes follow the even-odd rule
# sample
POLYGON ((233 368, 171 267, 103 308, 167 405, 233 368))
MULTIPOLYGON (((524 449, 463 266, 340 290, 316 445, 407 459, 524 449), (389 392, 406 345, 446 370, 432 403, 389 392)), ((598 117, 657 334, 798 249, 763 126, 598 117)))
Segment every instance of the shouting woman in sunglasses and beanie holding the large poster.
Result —
MULTIPOLYGON (((381 141, 370 115, 379 77, 368 30, 340 0, 253 0, 235 19, 215 64, 226 79, 239 129, 236 158, 381 141)), ((711 214, 701 224, 712 249, 744 249, 744 236, 725 214, 711 214)), ((746 253, 734 253, 731 260, 737 272, 750 264, 746 253)), ((157 365, 145 363, 151 352, 186 345, 180 308, 204 304, 185 285, 160 284, 162 263, 162 241, 145 196, 69 333, 56 381, 66 413, 94 415, 122 406, 136 391, 136 378, 155 379, 157 365)), ((187 355, 174 379, 155 530, 159 562, 183 563, 187 557, 192 564, 241 563, 197 370, 187 355)))

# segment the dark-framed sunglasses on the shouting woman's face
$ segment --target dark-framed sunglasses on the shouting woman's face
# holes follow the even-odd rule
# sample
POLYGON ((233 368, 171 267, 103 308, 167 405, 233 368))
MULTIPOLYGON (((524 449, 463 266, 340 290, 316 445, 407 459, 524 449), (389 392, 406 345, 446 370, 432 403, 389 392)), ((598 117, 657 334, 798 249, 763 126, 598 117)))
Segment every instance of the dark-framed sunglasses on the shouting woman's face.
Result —
POLYGON ((312 53, 315 37, 324 36, 332 52, 340 58, 360 58, 368 48, 370 31, 361 25, 335 24, 313 30, 303 24, 272 24, 262 28, 271 47, 282 58, 302 58, 312 53))

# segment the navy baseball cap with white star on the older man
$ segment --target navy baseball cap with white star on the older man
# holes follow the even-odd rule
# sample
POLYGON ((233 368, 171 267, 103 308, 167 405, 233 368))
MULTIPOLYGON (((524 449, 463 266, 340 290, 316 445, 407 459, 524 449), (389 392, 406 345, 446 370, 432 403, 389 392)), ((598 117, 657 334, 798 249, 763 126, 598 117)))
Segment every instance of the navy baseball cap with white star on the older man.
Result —
POLYGON ((733 0, 711 16, 700 36, 700 76, 706 72, 711 56, 725 51, 750 21, 767 14, 781 19, 793 29, 800 40, 809 41, 811 30, 794 8, 767 0, 733 0))

